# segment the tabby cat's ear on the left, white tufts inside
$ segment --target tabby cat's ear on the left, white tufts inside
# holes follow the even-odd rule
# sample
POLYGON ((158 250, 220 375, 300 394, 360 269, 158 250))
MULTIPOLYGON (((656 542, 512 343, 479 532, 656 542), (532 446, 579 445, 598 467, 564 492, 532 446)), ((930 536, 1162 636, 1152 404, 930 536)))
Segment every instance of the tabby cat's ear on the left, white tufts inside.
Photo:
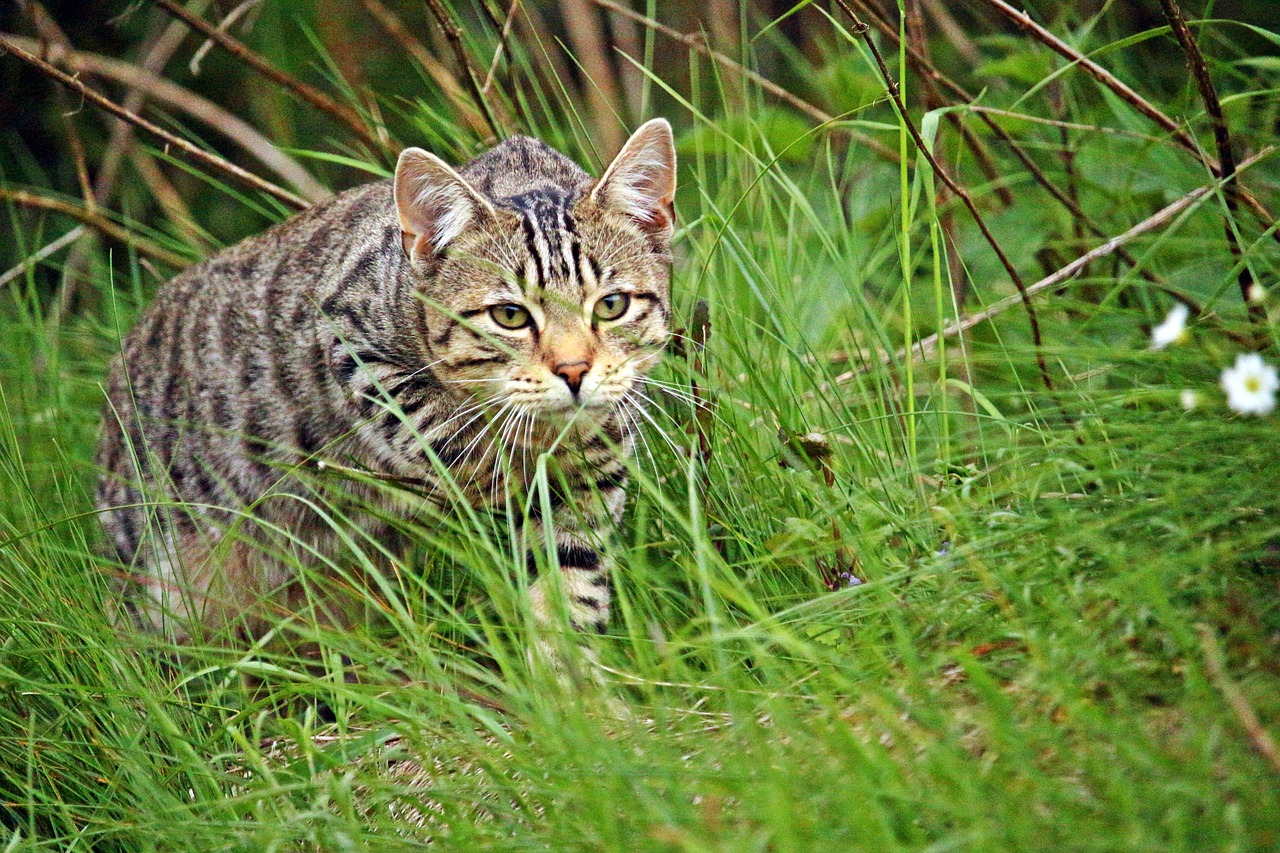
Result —
POLYGON ((396 163, 396 213, 404 254, 431 260, 493 206, 449 164, 422 149, 404 149, 396 163))

